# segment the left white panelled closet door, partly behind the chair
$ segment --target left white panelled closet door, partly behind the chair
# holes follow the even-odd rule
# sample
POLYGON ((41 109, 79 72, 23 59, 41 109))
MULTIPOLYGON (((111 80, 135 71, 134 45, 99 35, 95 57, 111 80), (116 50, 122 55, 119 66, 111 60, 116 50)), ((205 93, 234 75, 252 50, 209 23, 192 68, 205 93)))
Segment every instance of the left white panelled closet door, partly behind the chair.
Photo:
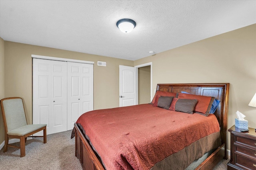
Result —
POLYGON ((33 124, 40 123, 47 134, 67 130, 66 62, 33 59, 33 124))

